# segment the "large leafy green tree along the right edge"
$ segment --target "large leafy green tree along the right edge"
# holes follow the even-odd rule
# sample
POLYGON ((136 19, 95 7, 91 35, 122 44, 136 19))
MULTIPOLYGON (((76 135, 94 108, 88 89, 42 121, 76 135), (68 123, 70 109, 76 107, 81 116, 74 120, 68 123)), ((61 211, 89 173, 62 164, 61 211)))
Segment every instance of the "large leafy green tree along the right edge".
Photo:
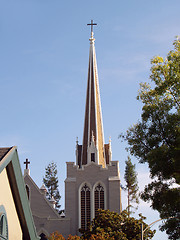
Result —
POLYGON ((141 120, 121 135, 140 163, 148 163, 153 182, 142 199, 151 201, 169 239, 180 238, 180 41, 167 58, 151 61, 152 86, 140 85, 137 99, 143 104, 141 120))

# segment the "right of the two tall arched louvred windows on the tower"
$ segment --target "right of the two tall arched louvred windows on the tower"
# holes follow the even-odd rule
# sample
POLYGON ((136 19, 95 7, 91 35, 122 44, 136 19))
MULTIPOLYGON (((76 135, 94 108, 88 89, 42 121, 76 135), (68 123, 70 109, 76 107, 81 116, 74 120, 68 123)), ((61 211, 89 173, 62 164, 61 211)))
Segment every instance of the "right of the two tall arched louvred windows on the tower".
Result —
POLYGON ((104 209, 104 188, 101 184, 98 184, 94 190, 94 209, 95 216, 98 209, 104 209))

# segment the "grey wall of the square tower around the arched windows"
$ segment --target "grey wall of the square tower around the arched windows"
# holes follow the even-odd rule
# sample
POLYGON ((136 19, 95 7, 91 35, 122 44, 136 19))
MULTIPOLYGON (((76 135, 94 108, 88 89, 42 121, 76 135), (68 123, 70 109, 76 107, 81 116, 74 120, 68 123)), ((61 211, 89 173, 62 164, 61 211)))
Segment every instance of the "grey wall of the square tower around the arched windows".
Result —
POLYGON ((119 162, 112 161, 107 168, 94 162, 79 169, 73 162, 67 162, 65 180, 65 210, 71 219, 71 234, 78 234, 80 228, 80 189, 87 183, 91 189, 91 218, 94 218, 94 188, 100 183, 105 190, 105 209, 121 212, 121 187, 119 162))

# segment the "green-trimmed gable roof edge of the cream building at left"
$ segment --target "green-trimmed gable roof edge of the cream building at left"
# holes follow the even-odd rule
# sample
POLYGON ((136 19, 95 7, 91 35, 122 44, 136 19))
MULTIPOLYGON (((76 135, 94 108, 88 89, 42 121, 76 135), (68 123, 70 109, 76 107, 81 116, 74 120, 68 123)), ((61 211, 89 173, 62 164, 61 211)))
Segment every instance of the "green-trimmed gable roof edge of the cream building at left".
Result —
POLYGON ((17 148, 0 148, 0 174, 6 168, 14 204, 21 225, 23 240, 38 240, 29 207, 17 148))

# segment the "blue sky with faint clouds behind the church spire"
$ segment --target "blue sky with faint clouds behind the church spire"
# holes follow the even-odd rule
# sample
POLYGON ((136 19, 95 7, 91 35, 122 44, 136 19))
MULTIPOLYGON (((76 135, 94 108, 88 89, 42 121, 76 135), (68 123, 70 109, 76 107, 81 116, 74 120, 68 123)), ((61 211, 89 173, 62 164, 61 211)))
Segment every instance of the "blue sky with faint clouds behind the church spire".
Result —
MULTIPOLYGON (((49 162, 58 165, 64 207, 66 162, 82 143, 93 19, 105 140, 121 179, 126 145, 118 135, 140 119, 139 83, 149 81, 150 59, 166 56, 180 33, 179 0, 0 0, 0 146, 18 146, 22 169, 40 187, 49 162)), ((140 189, 147 166, 138 164, 140 189)), ((126 196, 122 193, 123 208, 126 196)), ((159 218, 141 202, 151 223, 159 218)), ((158 227, 158 224, 154 226, 158 227)), ((154 240, 166 240, 158 232, 154 240)))

